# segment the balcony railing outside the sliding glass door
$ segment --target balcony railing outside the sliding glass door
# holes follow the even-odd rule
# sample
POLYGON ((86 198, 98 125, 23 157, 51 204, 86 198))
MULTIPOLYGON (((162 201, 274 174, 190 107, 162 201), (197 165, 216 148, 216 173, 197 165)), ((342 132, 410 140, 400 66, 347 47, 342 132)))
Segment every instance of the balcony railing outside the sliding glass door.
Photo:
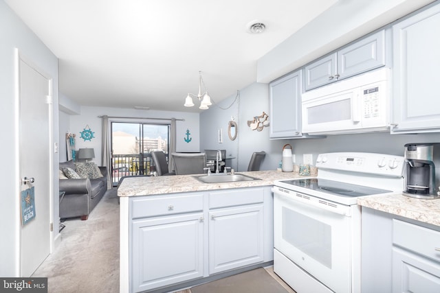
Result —
POLYGON ((154 172, 155 167, 149 152, 143 154, 113 154, 111 157, 113 186, 118 185, 120 178, 124 176, 152 176, 154 172))

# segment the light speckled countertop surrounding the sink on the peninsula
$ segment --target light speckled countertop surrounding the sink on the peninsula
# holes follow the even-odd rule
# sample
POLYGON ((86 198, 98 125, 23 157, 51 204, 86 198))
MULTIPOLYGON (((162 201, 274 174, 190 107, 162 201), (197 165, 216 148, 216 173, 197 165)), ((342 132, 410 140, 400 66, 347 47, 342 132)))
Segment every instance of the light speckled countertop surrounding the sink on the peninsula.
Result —
POLYGON ((148 196, 153 194, 175 194, 188 191, 267 186, 273 185, 274 180, 301 177, 296 172, 281 172, 275 170, 236 172, 236 174, 244 174, 261 180, 228 183, 201 183, 199 180, 193 178, 192 175, 128 177, 124 178, 118 188, 118 196, 148 196))

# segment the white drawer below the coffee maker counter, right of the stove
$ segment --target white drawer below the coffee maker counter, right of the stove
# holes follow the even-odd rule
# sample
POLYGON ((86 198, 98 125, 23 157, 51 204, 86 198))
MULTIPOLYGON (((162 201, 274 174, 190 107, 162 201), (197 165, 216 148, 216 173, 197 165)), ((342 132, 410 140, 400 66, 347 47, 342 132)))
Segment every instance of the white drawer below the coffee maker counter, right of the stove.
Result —
POLYGON ((440 232, 393 219, 393 244, 440 261, 440 232))

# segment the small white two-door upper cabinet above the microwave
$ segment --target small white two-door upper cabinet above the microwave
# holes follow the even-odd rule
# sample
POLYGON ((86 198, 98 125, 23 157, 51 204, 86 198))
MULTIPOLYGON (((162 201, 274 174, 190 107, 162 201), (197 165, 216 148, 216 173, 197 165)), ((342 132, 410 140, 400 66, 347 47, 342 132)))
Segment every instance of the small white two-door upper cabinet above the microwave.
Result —
POLYGON ((305 67, 305 90, 386 65, 385 30, 366 36, 305 67))

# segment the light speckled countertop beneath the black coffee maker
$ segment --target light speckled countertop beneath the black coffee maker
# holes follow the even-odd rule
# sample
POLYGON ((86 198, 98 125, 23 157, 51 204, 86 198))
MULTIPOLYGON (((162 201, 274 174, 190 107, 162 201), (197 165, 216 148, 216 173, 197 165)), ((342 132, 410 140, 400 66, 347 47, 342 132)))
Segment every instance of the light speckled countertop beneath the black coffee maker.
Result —
POLYGON ((420 200, 401 194, 393 194, 359 198, 358 204, 362 207, 440 226, 440 200, 420 200))

